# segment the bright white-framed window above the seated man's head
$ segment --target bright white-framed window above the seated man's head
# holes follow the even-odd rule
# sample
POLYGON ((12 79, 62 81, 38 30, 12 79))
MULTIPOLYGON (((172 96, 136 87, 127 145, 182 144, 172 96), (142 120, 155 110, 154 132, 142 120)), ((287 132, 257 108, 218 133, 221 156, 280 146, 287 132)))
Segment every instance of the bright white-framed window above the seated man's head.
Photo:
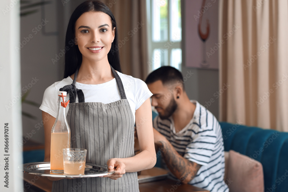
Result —
POLYGON ((170 65, 181 71, 181 0, 146 0, 149 72, 170 65))

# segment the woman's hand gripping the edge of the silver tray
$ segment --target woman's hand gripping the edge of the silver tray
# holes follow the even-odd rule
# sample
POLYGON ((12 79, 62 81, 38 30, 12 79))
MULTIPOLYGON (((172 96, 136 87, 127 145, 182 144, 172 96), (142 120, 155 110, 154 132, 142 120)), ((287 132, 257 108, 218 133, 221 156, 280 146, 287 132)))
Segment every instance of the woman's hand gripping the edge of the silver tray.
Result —
POLYGON ((109 177, 110 179, 118 179, 125 174, 125 164, 117 158, 111 158, 107 161, 108 172, 115 171, 113 174, 102 177, 109 177))

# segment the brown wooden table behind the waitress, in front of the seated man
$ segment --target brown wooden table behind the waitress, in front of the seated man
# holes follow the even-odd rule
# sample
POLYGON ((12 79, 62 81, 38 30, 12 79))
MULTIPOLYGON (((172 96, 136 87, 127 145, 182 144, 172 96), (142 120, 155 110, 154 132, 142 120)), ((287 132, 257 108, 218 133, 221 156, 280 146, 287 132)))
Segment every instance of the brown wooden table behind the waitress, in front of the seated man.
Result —
MULTIPOLYGON (((150 170, 145 170, 141 172, 142 177, 145 177, 145 175, 151 173, 156 173, 161 168, 152 168, 150 170)), ((165 172, 163 169, 161 173, 165 172)), ((53 181, 49 180, 47 177, 39 177, 37 175, 32 175, 28 173, 24 173, 24 181, 26 182, 26 186, 29 186, 29 188, 33 188, 36 191, 45 191, 50 192, 52 190, 52 183, 53 181)), ((177 182, 175 180, 171 179, 163 179, 153 182, 147 182, 147 183, 140 183, 139 184, 139 190, 140 192, 150 192, 150 191, 157 191, 157 192, 167 192, 167 191, 189 191, 189 192, 209 192, 204 189, 200 189, 198 187, 194 187, 192 185, 183 184, 180 182, 177 182)))

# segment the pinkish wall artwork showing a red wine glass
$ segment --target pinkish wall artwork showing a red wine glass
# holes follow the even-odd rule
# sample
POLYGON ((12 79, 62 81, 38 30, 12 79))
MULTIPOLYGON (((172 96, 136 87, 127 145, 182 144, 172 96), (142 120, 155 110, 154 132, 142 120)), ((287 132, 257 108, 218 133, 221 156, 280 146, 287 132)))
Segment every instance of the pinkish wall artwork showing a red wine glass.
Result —
POLYGON ((218 0, 185 0, 185 60, 187 67, 218 69, 218 0))

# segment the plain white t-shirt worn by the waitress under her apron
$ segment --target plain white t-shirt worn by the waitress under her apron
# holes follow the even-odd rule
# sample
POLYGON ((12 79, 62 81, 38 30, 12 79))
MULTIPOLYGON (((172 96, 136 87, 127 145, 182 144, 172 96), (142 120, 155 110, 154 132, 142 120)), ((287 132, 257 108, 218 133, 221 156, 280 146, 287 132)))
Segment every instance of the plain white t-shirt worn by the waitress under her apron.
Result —
MULTIPOLYGON (((126 98, 130 104, 135 122, 135 111, 143 104, 145 100, 152 96, 152 93, 149 91, 146 83, 141 79, 137 79, 120 72, 117 73, 122 80, 126 98)), ((58 81, 49 86, 44 92, 43 101, 39 109, 56 118, 58 109, 58 91, 65 85, 70 85, 72 83, 73 80, 69 76, 62 81, 58 81)), ((111 81, 98 85, 82 84, 78 82, 76 82, 75 85, 77 89, 81 89, 83 91, 85 102, 102 102, 107 104, 121 99, 115 78, 111 81)), ((68 100, 69 94, 66 98, 66 101, 68 100)), ((76 102, 78 102, 78 96, 76 96, 76 102)), ((66 115, 68 110, 69 106, 66 107, 66 115)))

